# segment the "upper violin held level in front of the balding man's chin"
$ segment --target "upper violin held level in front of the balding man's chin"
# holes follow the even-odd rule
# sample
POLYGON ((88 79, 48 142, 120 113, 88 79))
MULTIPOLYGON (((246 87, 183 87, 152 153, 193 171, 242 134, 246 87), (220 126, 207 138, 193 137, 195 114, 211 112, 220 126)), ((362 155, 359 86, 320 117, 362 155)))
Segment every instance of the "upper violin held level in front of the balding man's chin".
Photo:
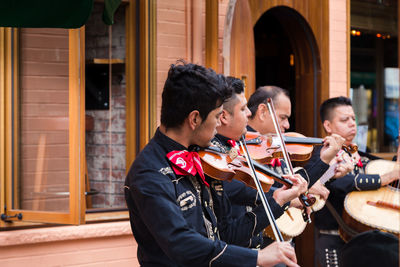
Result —
MULTIPOLYGON (((305 137, 300 133, 284 133, 283 141, 291 161, 307 161, 311 158, 314 145, 323 145, 324 139, 305 137)), ((260 135, 255 132, 246 134, 246 144, 250 156, 261 164, 268 164, 274 158, 283 158, 283 151, 276 135, 260 135)), ((343 145, 344 150, 354 153, 358 150, 356 144, 343 145)))

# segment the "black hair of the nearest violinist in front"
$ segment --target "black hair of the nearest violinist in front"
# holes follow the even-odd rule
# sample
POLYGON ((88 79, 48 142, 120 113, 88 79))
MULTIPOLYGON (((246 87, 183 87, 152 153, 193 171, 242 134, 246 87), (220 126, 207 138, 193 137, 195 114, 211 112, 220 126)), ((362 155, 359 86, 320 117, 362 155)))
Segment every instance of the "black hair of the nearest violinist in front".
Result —
POLYGON ((179 60, 171 65, 164 84, 161 123, 166 128, 178 127, 193 110, 198 110, 205 121, 228 97, 230 91, 223 75, 179 60))

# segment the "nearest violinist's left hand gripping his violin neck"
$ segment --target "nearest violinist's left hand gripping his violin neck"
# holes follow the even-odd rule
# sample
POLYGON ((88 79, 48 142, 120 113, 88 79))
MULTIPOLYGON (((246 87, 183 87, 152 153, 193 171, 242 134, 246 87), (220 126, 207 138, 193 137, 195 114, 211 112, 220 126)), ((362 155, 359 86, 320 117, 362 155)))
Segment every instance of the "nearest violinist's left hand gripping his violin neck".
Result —
POLYGON ((282 177, 289 179, 293 183, 293 186, 290 188, 283 186, 274 191, 273 198, 280 206, 304 194, 308 186, 307 181, 299 174, 283 175, 282 177))

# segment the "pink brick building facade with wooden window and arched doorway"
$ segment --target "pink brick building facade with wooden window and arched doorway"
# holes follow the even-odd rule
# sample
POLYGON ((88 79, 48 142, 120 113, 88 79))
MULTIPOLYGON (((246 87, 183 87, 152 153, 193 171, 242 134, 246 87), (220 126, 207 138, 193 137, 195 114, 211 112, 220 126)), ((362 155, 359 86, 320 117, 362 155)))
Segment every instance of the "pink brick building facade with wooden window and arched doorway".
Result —
MULTIPOLYGON (((307 136, 323 135, 320 103, 354 97, 350 88, 364 82, 354 77, 385 72, 381 64, 353 75, 357 31, 391 35, 396 59, 387 67, 398 67, 397 1, 126 0, 113 26, 102 24, 101 10, 96 2, 79 29, 0 28, 1 266, 138 265, 122 187, 159 124, 178 59, 241 78, 247 96, 260 85, 287 88, 291 130, 307 136), (390 10, 395 27, 352 15, 366 5, 390 10)), ((385 87, 371 88, 379 97, 385 87)), ((373 99, 379 121, 384 101, 373 99)), ((390 99, 398 103, 398 80, 390 99)), ((385 124, 375 128, 383 144, 385 124)), ((296 240, 302 266, 313 266, 312 239, 310 226, 296 240)))

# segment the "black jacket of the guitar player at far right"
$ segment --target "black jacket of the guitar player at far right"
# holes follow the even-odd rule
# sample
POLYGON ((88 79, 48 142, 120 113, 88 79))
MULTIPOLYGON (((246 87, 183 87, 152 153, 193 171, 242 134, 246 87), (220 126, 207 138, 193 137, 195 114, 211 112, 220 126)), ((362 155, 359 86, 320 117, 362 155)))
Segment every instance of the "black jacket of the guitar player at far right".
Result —
MULTIPOLYGON (((319 158, 321 148, 315 149, 310 162, 319 158)), ((363 165, 369 161, 367 157, 361 157, 363 165)), ((341 215, 343 212, 344 199, 346 195, 352 191, 374 190, 381 187, 381 180, 377 174, 364 174, 364 169, 355 167, 352 173, 342 178, 332 179, 325 186, 329 189, 329 202, 335 207, 336 211, 341 215)), ((315 213, 315 226, 321 230, 337 230, 339 225, 332 216, 328 208, 315 213)))

